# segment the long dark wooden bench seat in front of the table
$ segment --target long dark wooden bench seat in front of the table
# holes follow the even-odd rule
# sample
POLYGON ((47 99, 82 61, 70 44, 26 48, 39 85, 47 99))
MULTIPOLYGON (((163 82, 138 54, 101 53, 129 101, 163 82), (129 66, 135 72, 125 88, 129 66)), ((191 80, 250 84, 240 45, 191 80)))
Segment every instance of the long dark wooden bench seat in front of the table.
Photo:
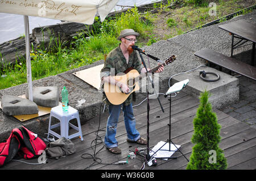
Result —
POLYGON ((225 56, 224 54, 215 52, 209 48, 199 50, 195 53, 195 56, 256 80, 256 68, 242 61, 236 60, 235 58, 225 56))

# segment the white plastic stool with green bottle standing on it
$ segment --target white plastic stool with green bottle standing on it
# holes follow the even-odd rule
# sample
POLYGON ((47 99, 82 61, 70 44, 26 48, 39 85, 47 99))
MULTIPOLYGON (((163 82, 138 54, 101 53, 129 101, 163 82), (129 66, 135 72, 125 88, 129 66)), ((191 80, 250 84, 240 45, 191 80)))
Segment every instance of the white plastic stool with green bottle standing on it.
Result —
POLYGON ((68 111, 63 111, 62 106, 53 107, 51 109, 51 113, 50 113, 50 117, 49 117, 48 137, 49 137, 49 133, 58 138, 65 137, 65 138, 71 139, 71 138, 80 136, 81 141, 84 140, 82 138, 82 130, 81 130, 81 124, 80 124, 80 119, 79 119, 79 112, 71 106, 68 106, 68 111), (60 123, 51 125, 52 117, 59 119, 60 123), (72 119, 77 119, 78 127, 69 123, 69 121, 72 119), (51 129, 57 128, 57 127, 60 127, 60 134, 57 134, 56 132, 53 132, 51 130, 51 129), (68 135, 69 127, 72 127, 73 129, 75 129, 78 132, 75 134, 72 134, 72 135, 68 135))

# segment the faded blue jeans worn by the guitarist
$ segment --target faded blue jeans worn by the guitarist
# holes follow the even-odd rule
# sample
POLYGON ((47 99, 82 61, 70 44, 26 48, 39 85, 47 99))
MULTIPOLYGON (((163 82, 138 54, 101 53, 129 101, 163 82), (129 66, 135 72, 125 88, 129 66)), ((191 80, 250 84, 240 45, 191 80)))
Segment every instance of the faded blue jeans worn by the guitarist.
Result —
POLYGON ((105 134, 105 146, 106 148, 113 148, 118 146, 117 140, 115 140, 115 134, 117 133, 117 123, 119 113, 121 111, 121 106, 123 106, 123 119, 125 121, 125 128, 127 132, 127 138, 130 141, 137 141, 141 135, 135 128, 136 120, 133 115, 133 104, 128 106, 120 105, 109 105, 109 118, 106 125, 106 134, 105 134))

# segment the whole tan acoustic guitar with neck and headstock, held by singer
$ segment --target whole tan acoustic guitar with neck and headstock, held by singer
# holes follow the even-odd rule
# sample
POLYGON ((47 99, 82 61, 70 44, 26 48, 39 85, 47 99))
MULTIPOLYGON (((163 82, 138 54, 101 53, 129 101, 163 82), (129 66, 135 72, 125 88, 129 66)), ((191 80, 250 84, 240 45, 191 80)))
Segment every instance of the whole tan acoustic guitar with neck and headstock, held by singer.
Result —
MULTIPOLYGON (((164 61, 163 64, 160 64, 156 66, 154 69, 148 70, 148 73, 154 73, 160 66, 166 66, 173 62, 176 59, 174 55, 172 55, 170 58, 168 58, 166 61, 164 61)), ((139 74, 139 72, 135 69, 127 69, 125 73, 118 74, 116 76, 113 76, 114 79, 116 79, 118 82, 125 83, 130 91, 126 94, 122 92, 122 90, 111 83, 105 82, 104 83, 104 92, 106 97, 108 98, 109 102, 114 105, 119 105, 125 102, 125 100, 128 98, 128 96, 133 93, 134 91, 139 90, 139 80, 142 79, 145 74, 139 74)))

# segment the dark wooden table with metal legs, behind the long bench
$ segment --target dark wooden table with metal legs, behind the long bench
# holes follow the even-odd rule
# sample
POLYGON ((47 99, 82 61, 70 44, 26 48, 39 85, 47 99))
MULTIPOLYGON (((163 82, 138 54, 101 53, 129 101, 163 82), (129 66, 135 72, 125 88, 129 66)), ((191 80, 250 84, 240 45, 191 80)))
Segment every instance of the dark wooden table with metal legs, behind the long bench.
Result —
POLYGON ((256 24, 246 22, 245 20, 238 20, 236 22, 221 24, 218 27, 222 30, 228 31, 232 35, 231 57, 233 57, 234 49, 246 46, 243 44, 247 41, 253 42, 253 48, 251 50, 251 65, 254 66, 256 24), (236 44, 234 44, 234 37, 240 39, 236 44))

